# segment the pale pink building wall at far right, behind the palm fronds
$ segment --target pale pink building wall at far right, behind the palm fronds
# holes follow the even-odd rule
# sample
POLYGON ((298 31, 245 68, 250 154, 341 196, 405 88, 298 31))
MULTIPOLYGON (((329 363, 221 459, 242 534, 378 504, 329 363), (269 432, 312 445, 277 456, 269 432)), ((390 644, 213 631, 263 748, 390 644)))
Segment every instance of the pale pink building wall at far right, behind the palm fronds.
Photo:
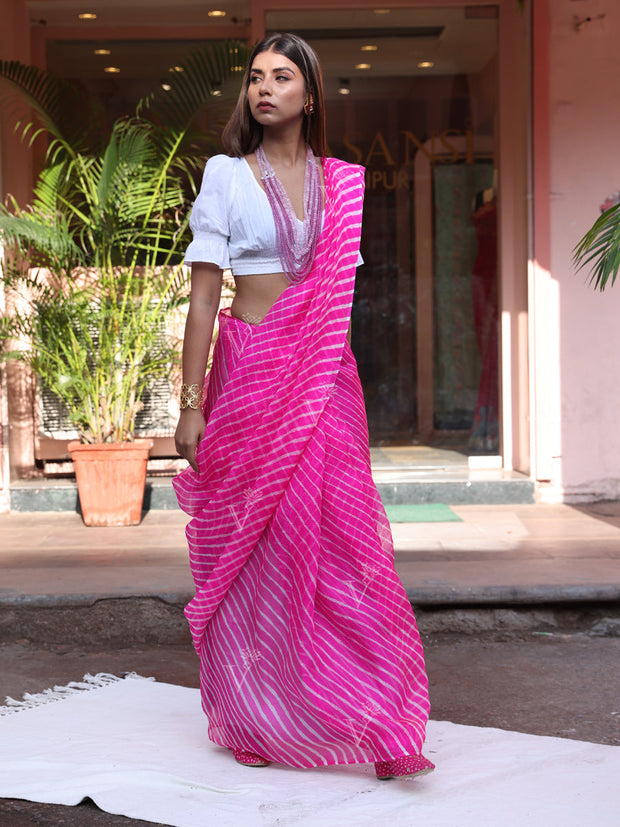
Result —
POLYGON ((550 12, 551 488, 567 501, 617 498, 620 282, 595 292, 571 251, 620 190, 620 3, 550 0, 550 12))

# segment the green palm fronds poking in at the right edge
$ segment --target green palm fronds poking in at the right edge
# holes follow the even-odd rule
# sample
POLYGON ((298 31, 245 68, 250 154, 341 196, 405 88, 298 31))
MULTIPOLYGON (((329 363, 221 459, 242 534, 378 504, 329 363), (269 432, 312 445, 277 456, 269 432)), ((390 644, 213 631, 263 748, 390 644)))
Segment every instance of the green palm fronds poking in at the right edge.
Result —
POLYGON ((573 251, 578 268, 590 266, 590 284, 605 290, 616 281, 620 269, 620 204, 611 207, 595 221, 573 251))

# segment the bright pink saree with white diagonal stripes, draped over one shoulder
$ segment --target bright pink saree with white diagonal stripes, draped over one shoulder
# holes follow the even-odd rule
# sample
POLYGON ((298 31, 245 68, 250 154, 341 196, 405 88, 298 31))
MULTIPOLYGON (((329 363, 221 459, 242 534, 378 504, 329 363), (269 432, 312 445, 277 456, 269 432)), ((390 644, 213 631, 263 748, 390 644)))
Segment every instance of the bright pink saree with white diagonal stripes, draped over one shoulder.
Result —
POLYGON ((311 273, 260 325, 220 313, 200 474, 174 483, 208 735, 295 767, 419 753, 429 712, 346 341, 363 169, 324 172, 311 273))

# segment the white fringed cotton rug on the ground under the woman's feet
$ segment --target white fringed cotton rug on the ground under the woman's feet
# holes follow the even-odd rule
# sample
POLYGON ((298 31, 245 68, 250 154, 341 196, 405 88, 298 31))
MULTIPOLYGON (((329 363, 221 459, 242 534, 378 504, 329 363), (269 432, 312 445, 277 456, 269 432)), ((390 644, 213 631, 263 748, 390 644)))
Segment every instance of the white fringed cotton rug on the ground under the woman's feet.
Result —
POLYGON ((207 741, 197 689, 86 676, 0 707, 0 797, 174 827, 617 827, 620 748, 431 722, 417 780, 371 764, 246 768, 207 741))

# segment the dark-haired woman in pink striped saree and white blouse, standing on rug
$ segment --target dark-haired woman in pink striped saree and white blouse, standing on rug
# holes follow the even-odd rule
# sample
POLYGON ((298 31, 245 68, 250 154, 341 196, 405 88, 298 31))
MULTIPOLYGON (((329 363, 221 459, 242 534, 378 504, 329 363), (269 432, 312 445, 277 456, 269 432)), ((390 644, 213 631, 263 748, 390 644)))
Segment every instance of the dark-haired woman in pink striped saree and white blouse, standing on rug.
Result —
POLYGON ((176 434, 209 737, 248 766, 429 772, 422 647, 348 341, 363 169, 325 157, 321 72, 303 40, 254 49, 222 139, 192 213, 176 434), (203 401, 228 266, 237 291, 203 401))

